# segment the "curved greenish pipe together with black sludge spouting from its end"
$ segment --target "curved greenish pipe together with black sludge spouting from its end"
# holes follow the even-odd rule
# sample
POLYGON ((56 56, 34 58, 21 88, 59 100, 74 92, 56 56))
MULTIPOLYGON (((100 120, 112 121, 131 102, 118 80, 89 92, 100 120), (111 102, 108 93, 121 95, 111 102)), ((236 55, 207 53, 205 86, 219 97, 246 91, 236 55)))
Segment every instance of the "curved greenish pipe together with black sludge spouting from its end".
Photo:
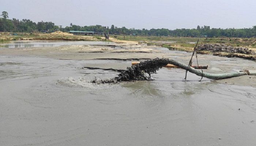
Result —
POLYGON ((121 81, 134 81, 134 80, 151 80, 151 75, 153 73, 157 73, 156 71, 162 68, 167 64, 172 64, 178 66, 179 68, 188 70, 191 73, 196 74, 197 76, 211 78, 214 80, 224 79, 224 78, 231 78, 231 77, 238 77, 244 75, 252 75, 256 76, 256 71, 249 71, 249 70, 242 70, 240 72, 231 72, 231 73, 206 73, 202 72, 201 70, 197 70, 183 64, 181 62, 175 61, 173 59, 167 58, 155 58, 146 61, 142 61, 139 64, 132 65, 128 67, 127 70, 124 70, 117 77, 110 78, 107 80, 93 80, 93 83, 116 83, 121 81), (146 76, 147 73, 149 76, 146 76))

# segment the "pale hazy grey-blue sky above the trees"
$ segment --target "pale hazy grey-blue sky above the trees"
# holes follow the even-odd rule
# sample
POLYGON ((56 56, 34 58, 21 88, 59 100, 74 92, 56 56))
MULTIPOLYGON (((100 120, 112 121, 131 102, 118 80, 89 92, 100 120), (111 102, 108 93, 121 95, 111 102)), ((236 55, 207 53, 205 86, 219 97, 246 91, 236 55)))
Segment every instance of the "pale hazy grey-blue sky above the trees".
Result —
POLYGON ((0 0, 9 19, 55 25, 151 28, 249 28, 256 0, 0 0))

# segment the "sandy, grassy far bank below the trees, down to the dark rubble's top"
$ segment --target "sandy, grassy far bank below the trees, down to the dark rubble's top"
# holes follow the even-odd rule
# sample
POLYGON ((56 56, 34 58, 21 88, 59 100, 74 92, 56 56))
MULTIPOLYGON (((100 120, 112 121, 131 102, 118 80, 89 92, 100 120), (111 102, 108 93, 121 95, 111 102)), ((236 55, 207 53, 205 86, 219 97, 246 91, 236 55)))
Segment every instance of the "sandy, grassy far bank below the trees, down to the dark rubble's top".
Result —
MULTIPOLYGON (((10 35, 10 32, 1 32, 0 42, 3 41, 23 41, 23 40, 43 40, 43 41, 105 41, 102 35, 81 36, 73 35, 67 32, 46 33, 15 33, 10 35)), ((113 42, 132 42, 132 43, 147 43, 148 45, 170 45, 171 47, 187 47, 193 48, 197 38, 191 37, 157 37, 157 36, 132 36, 132 35, 110 35, 110 40, 113 42)), ((225 44, 233 47, 248 47, 256 48, 256 38, 200 38, 201 44, 225 44)))

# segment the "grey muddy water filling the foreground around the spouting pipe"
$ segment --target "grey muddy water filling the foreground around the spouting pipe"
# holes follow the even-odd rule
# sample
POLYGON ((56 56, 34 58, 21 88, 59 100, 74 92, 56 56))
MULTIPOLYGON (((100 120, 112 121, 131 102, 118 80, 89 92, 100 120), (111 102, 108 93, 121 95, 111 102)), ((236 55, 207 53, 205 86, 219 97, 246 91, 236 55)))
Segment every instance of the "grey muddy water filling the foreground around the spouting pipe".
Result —
MULTIPOLYGON (((172 51, 186 62, 189 53, 172 51)), ((170 56, 169 56, 170 57, 170 56)), ((256 69, 255 62, 200 55, 207 72, 256 69)), ((131 61, 60 60, 0 56, 0 145, 253 146, 256 88, 220 84, 181 69, 153 74, 154 81, 91 84, 117 76, 131 61)), ((255 78, 254 78, 255 80, 255 78)))

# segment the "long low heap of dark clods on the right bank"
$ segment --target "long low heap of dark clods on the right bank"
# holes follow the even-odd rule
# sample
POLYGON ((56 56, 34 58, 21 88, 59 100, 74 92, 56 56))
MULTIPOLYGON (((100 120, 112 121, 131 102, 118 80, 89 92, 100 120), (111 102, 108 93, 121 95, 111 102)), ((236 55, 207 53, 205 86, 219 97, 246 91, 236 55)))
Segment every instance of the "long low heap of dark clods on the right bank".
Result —
POLYGON ((203 44, 197 47, 198 51, 227 52, 255 55, 255 51, 244 47, 232 47, 224 44, 203 44))

